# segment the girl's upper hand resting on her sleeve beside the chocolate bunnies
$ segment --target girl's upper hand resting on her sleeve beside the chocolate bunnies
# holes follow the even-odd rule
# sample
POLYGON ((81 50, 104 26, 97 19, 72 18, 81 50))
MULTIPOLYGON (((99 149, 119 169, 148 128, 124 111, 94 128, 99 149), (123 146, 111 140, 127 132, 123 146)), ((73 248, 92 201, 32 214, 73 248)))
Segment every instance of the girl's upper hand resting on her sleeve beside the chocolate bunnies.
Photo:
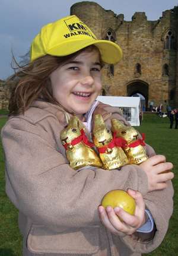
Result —
POLYGON ((152 156, 139 165, 148 176, 148 191, 160 190, 167 187, 166 181, 174 178, 173 164, 166 162, 166 157, 152 156), (163 173, 164 172, 164 173, 163 173))

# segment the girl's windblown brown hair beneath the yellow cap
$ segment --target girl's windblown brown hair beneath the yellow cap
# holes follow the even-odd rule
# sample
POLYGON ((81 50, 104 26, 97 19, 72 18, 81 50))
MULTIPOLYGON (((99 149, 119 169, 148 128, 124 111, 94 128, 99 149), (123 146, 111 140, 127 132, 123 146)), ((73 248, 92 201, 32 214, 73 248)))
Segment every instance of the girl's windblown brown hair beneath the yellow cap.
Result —
MULTIPOLYGON (((14 83, 9 99, 9 115, 24 114, 31 103, 37 99, 59 105, 58 101, 53 97, 49 75, 60 65, 69 59, 74 59, 86 49, 90 51, 97 48, 91 45, 71 55, 62 57, 45 55, 24 66, 18 65, 15 61, 17 68, 14 68, 14 70, 17 69, 17 72, 9 78, 9 81, 12 80, 14 83)), ((101 60, 100 62, 103 66, 103 62, 101 60)))

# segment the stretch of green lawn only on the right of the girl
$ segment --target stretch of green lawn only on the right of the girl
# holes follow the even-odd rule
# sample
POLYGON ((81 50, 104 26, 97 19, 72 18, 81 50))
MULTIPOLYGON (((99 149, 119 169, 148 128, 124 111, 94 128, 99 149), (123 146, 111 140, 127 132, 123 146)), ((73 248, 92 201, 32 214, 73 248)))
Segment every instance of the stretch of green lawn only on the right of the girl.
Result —
POLYGON ((147 113, 141 127, 136 127, 146 135, 145 141, 150 144, 157 154, 164 154, 168 162, 174 165, 174 212, 170 219, 169 230, 161 246, 155 249, 149 256, 177 256, 178 255, 178 129, 169 129, 168 118, 160 118, 156 114, 147 113))

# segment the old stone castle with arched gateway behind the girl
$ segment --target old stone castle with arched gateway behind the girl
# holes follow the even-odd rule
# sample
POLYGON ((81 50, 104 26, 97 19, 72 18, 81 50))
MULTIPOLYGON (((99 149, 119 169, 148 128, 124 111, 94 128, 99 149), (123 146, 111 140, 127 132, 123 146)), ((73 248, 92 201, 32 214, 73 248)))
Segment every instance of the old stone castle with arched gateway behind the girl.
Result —
MULTIPOLYGON (((123 14, 104 10, 96 2, 77 2, 71 15, 81 18, 98 39, 112 40, 123 50, 123 59, 103 69, 103 95, 142 94, 145 108, 149 102, 166 102, 178 107, 178 7, 163 11, 156 21, 145 12, 135 12, 132 21, 123 14)), ((5 83, 0 86, 0 109, 7 108, 5 83)), ((6 93, 7 95, 8 93, 6 93)))

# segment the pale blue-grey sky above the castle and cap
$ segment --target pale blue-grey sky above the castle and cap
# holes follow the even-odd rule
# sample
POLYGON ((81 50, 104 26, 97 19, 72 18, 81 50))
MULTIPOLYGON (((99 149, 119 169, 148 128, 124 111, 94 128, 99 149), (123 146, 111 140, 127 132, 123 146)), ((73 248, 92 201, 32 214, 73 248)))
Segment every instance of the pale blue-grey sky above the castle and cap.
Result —
MULTIPOLYGON (((70 14, 75 0, 0 0, 0 79, 12 74, 11 50, 20 60, 30 48, 40 28, 70 14)), ((145 11, 148 20, 158 20, 162 12, 178 4, 178 0, 96 0, 105 10, 123 14, 126 21, 136 11, 145 11)))

